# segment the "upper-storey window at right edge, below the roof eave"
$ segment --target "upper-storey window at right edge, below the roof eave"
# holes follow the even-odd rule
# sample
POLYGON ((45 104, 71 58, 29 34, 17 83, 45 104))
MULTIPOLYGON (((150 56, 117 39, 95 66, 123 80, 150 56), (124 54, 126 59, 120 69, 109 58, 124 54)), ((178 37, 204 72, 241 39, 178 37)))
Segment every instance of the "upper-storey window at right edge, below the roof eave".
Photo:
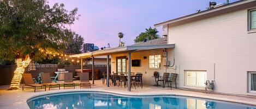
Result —
POLYGON ((256 30, 256 9, 249 10, 249 30, 256 30))

